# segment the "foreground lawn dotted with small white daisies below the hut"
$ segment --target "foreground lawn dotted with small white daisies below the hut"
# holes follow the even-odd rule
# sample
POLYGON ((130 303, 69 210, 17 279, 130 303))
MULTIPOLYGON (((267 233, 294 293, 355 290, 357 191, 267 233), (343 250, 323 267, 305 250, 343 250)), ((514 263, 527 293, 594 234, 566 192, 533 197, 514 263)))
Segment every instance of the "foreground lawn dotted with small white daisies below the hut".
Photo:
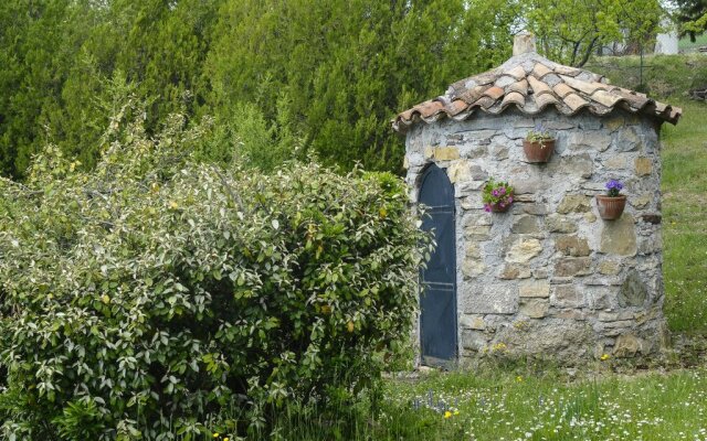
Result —
POLYGON ((704 368, 560 378, 556 372, 540 377, 456 373, 391 381, 391 409, 408 410, 383 415, 380 423, 395 428, 404 412, 416 412, 415 423, 399 432, 419 440, 707 440, 704 368))

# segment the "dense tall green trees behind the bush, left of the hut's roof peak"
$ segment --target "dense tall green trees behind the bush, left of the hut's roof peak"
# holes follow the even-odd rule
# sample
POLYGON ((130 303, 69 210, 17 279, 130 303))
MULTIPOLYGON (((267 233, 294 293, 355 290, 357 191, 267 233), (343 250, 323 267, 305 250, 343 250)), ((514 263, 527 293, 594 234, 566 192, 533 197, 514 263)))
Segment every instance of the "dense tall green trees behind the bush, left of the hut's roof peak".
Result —
POLYGON ((117 79, 151 103, 148 133, 175 111, 212 116, 218 160, 261 118, 288 151, 265 169, 296 149, 399 170, 389 120, 505 60, 515 19, 513 1, 481 0, 29 4, 0 2, 0 173, 20 179, 46 142, 95 165, 117 79))

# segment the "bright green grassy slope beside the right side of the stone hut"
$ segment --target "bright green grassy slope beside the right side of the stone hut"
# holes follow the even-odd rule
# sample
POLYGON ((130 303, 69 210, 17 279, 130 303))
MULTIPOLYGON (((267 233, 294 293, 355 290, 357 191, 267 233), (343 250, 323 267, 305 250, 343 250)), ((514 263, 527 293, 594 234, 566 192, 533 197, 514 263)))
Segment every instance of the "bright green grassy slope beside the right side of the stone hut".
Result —
POLYGON ((707 105, 663 128, 665 314, 671 330, 707 335, 707 105))

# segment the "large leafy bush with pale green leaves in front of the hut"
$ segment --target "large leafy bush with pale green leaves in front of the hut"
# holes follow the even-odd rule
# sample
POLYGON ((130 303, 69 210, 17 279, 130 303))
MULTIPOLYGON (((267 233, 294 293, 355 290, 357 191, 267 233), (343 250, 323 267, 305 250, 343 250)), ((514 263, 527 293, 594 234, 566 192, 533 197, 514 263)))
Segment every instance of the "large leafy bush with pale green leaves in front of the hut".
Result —
POLYGON ((399 179, 219 169, 183 126, 114 119, 94 171, 50 147, 0 181, 7 439, 194 439, 223 409, 243 434, 355 397, 409 338, 428 240, 399 179))

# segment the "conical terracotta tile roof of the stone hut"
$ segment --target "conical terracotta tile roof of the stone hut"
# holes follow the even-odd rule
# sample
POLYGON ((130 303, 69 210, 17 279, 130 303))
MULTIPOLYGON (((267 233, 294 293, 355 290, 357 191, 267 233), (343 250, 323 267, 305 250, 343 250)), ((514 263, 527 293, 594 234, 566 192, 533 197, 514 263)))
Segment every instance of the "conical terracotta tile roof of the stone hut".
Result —
POLYGON ((679 107, 612 86, 601 75, 553 63, 535 52, 511 57, 500 67, 456 82, 447 92, 398 115, 393 129, 404 132, 418 121, 464 120, 476 110, 498 115, 511 107, 534 115, 555 106, 564 115, 585 109, 594 115, 621 108, 677 123, 679 107))

